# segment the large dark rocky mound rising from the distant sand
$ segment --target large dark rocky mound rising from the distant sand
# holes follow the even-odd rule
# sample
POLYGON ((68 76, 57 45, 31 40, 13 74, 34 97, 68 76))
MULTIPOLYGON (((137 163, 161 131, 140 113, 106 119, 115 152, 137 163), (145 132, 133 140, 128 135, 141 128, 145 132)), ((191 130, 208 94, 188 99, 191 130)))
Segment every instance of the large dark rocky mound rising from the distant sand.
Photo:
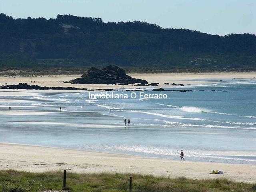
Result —
POLYGON ((115 65, 106 66, 101 70, 91 67, 87 74, 83 74, 81 78, 71 80, 71 82, 78 84, 148 84, 146 80, 132 78, 122 68, 115 65))

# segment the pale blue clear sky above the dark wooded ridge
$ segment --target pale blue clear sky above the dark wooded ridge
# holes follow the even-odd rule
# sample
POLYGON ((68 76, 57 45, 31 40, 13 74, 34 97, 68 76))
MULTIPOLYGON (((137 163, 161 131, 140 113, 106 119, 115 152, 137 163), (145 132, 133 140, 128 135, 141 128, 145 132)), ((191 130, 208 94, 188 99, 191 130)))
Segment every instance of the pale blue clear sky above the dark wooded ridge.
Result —
POLYGON ((47 19, 71 14, 100 17, 104 22, 146 21, 208 34, 256 34, 256 0, 0 0, 0 13, 47 19))

